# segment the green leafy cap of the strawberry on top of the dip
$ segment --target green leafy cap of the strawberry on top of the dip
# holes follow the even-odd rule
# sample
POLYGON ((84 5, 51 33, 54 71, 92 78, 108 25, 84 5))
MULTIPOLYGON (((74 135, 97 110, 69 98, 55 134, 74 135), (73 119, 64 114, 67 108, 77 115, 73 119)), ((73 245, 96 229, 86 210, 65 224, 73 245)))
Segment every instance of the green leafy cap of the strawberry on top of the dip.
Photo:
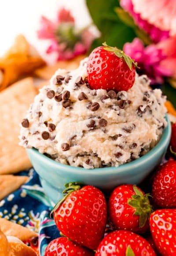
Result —
POLYGON ((111 47, 107 45, 106 42, 104 42, 103 45, 105 46, 104 50, 114 53, 118 58, 123 58, 130 70, 132 70, 132 65, 138 68, 137 63, 133 59, 131 59, 128 55, 126 55, 124 51, 118 49, 117 47, 111 47))

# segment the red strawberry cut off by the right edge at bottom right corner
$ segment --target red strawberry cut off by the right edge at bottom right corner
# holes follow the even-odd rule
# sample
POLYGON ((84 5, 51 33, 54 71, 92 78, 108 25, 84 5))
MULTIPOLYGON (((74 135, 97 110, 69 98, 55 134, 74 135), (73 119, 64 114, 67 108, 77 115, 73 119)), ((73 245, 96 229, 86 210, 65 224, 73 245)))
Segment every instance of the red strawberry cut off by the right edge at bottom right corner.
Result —
POLYGON ((163 256, 176 256, 176 210, 161 209, 150 215, 150 230, 163 256))

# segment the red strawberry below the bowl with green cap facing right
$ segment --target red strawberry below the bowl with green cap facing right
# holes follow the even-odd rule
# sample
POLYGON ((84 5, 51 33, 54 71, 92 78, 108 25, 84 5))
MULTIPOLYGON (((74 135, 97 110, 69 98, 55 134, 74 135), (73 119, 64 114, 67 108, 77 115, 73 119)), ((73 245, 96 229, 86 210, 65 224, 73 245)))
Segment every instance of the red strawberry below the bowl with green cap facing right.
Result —
POLYGON ((149 194, 144 194, 135 185, 121 185, 114 189, 109 199, 109 215, 118 229, 144 233, 149 226, 152 211, 149 194))

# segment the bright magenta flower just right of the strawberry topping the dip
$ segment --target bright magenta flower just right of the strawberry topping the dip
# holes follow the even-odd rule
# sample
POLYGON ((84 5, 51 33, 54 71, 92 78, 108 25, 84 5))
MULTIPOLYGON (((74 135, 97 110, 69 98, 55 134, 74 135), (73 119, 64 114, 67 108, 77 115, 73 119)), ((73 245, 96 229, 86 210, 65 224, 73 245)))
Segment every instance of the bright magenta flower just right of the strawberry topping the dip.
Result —
POLYGON ((163 68, 161 62, 166 59, 162 49, 156 45, 149 45, 146 48, 139 38, 124 45, 124 51, 132 59, 136 60, 139 66, 139 73, 147 74, 151 83, 163 83, 163 78, 172 75, 172 71, 163 68))

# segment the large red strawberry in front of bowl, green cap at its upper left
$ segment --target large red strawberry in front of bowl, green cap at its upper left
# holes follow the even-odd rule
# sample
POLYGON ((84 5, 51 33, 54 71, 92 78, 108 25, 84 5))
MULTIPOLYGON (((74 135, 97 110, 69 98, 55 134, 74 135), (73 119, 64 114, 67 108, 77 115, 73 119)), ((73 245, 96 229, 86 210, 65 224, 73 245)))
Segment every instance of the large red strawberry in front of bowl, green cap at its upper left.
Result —
POLYGON ((93 186, 81 188, 76 182, 66 186, 66 199, 53 209, 56 226, 72 241, 95 250, 106 227, 105 197, 93 186))

